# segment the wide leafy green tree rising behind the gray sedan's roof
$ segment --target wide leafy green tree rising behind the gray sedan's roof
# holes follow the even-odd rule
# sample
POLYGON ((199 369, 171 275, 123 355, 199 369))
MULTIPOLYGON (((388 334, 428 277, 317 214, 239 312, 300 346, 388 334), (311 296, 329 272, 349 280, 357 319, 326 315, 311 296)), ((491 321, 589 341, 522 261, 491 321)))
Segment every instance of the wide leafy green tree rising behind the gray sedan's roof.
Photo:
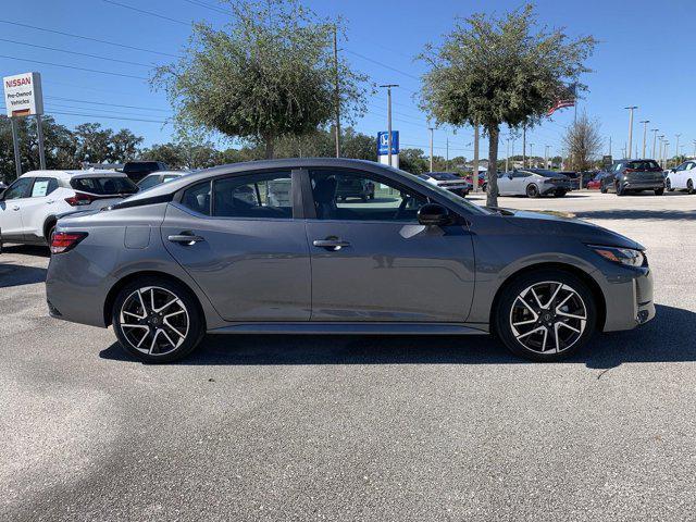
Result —
POLYGON ((311 134, 334 117, 336 77, 341 114, 364 111, 365 78, 344 60, 335 66, 334 23, 299 0, 228 3, 229 25, 194 24, 184 57, 152 77, 181 126, 263 144, 273 158, 278 138, 311 134))

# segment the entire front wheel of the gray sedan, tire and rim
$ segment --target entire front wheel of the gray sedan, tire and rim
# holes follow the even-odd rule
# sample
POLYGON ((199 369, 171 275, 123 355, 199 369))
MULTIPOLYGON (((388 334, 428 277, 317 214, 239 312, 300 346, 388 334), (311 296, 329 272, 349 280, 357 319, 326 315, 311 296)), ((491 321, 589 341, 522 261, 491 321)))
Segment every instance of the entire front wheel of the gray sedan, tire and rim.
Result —
POLYGON ((597 307, 576 276, 544 270, 506 286, 495 311, 495 332, 514 355, 558 361, 580 350, 592 336, 597 307))

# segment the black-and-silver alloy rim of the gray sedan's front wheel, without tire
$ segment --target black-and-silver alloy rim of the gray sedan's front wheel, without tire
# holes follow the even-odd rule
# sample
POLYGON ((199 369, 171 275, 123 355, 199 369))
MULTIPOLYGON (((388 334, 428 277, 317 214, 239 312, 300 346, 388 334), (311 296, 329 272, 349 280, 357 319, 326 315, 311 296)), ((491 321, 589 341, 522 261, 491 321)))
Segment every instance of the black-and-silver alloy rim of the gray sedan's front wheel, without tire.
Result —
POLYGON ((535 353, 560 353, 582 337, 587 307, 571 286, 546 281, 521 291, 510 310, 512 335, 535 353))

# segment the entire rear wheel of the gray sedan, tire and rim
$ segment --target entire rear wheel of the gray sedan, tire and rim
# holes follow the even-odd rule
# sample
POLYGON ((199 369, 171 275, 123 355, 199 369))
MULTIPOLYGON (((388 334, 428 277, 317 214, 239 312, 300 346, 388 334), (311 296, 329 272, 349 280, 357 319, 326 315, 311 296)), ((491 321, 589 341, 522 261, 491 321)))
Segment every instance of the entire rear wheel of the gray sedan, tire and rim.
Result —
POLYGON ((160 277, 139 278, 122 288, 114 301, 112 323, 123 348, 148 362, 187 356, 206 331, 190 291, 160 277))

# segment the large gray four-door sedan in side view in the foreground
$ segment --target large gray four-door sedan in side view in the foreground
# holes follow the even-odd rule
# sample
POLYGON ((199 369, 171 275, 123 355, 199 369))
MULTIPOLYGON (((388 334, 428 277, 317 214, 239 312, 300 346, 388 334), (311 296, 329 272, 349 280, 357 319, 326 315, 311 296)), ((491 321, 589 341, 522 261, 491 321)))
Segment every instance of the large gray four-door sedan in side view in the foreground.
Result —
POLYGON ((140 359, 211 334, 488 334, 554 361, 655 315, 644 248, 577 220, 485 209, 374 162, 288 159, 182 176, 58 223, 52 316, 140 359), (339 200, 339 179, 394 197, 339 200), (290 182, 291 181, 291 182, 290 182), (238 200, 283 182, 277 203, 238 200))

